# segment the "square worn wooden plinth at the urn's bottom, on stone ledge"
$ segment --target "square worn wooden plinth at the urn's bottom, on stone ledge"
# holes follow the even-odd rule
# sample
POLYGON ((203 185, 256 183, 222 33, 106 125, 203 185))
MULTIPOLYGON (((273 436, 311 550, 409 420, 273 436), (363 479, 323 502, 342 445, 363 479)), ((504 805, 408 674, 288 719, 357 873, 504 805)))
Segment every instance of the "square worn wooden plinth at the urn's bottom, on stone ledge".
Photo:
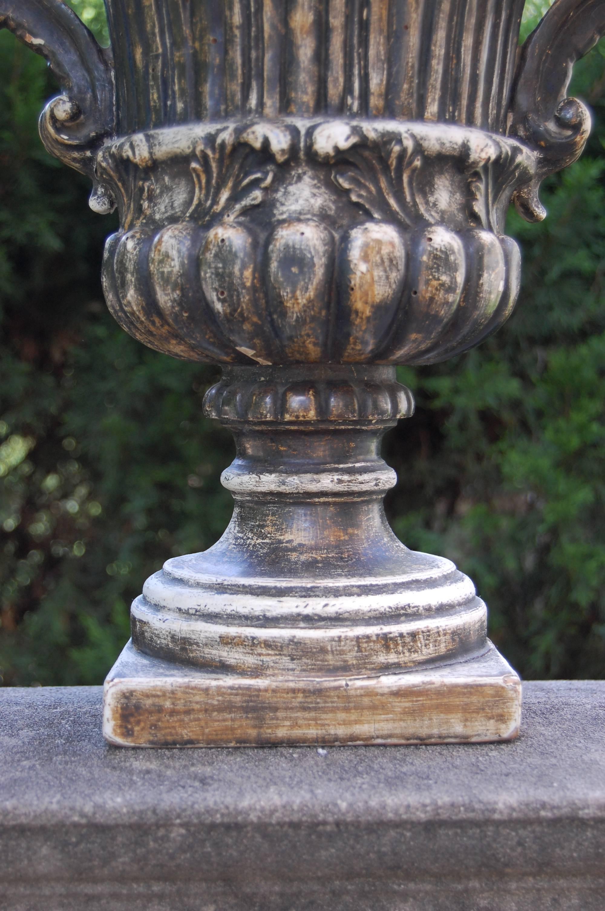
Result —
POLYGON ((107 676, 116 746, 263 746, 512 740, 519 677, 490 644, 448 667, 362 678, 246 678, 149 658, 128 642, 107 676))

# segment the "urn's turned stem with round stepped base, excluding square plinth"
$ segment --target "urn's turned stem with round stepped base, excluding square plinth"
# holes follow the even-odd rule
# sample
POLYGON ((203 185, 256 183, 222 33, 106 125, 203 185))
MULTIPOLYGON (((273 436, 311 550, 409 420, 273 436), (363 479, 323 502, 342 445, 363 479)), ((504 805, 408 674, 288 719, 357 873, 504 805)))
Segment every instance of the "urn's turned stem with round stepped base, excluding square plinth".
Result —
POLYGON ((252 675, 379 674, 488 649, 486 609, 449 560, 405 548, 382 435, 411 414, 392 367, 237 367, 207 394, 233 431, 225 535, 168 560, 132 610, 138 650, 252 675))

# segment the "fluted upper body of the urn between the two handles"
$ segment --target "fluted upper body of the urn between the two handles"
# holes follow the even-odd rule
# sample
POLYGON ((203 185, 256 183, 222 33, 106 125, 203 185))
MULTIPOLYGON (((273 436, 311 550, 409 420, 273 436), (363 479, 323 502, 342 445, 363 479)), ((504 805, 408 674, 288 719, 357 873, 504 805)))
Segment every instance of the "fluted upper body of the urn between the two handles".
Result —
POLYGON ((117 129, 355 116, 502 133, 525 0, 110 0, 117 129))

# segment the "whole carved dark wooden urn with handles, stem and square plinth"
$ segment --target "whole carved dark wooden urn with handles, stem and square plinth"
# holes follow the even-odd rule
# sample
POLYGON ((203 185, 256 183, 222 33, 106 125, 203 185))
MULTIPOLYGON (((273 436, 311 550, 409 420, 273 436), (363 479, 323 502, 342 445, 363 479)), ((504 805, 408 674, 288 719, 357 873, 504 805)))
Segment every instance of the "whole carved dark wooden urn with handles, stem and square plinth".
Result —
POLYGON ((489 741, 519 678, 473 583, 405 548, 381 436, 396 364, 444 360, 519 292, 510 200, 576 159, 566 88, 603 0, 106 0, 111 51, 61 0, 0 0, 63 94, 41 134, 117 206, 117 322, 223 365, 233 518, 132 606, 104 731, 128 745, 489 741))

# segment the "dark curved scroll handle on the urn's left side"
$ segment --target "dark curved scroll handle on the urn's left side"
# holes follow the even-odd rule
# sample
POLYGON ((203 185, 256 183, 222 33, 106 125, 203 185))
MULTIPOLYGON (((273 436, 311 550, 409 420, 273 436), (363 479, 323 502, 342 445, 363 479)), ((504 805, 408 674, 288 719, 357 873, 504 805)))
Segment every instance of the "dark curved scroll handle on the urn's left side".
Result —
POLYGON ((110 51, 63 0, 0 0, 0 28, 44 56, 62 89, 40 116, 45 147, 93 179, 92 209, 113 210, 111 194, 95 179, 96 150, 114 131, 110 51))

